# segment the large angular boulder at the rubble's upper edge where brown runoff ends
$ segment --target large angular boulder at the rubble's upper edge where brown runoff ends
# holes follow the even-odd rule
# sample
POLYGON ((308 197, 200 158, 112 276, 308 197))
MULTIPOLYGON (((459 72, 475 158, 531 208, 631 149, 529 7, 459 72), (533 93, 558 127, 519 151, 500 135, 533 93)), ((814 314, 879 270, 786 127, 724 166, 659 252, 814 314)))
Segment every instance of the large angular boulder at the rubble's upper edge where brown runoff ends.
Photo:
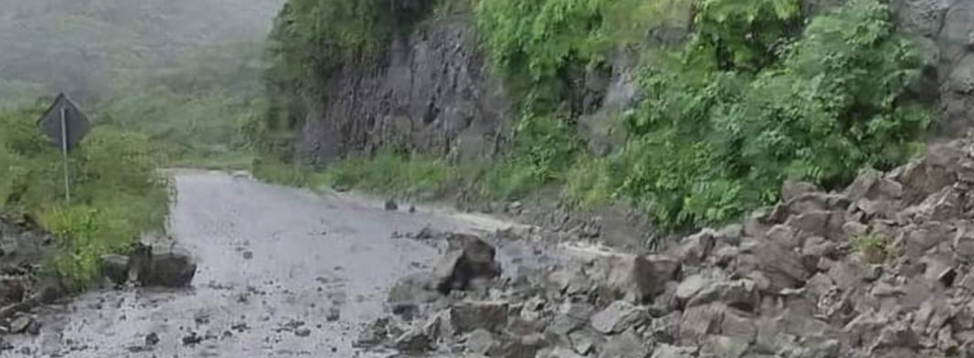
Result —
POLYGON ((616 254, 597 260, 592 277, 600 299, 642 304, 663 293, 679 269, 680 263, 669 256, 616 254))

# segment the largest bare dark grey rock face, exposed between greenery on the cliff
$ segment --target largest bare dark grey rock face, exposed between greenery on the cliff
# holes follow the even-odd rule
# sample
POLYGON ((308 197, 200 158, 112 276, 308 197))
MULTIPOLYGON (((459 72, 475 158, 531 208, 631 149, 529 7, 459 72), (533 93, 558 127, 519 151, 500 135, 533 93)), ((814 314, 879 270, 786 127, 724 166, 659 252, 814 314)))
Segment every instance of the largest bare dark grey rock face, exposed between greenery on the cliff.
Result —
POLYGON ((384 58, 338 71, 323 112, 304 121, 299 155, 320 164, 384 145, 491 153, 508 106, 487 79, 471 23, 462 15, 425 21, 395 36, 384 58))

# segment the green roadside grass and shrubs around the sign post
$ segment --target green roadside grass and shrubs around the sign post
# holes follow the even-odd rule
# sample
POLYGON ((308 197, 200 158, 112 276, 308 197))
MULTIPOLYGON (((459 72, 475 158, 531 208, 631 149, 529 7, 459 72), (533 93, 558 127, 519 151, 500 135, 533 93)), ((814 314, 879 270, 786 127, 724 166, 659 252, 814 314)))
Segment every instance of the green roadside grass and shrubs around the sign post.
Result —
POLYGON ((101 255, 124 252, 162 230, 169 193, 160 158, 140 134, 96 127, 70 155, 72 201, 64 201, 60 151, 34 125, 37 108, 0 113, 0 210, 37 217, 59 238, 51 269, 75 287, 97 274, 101 255))

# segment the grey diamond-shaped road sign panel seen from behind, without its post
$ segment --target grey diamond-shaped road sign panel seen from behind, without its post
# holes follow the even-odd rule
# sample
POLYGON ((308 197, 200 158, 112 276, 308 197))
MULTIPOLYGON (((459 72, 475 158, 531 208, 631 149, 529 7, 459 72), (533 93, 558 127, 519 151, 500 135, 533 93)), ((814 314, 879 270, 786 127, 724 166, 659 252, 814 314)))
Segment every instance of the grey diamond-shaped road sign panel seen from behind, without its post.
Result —
POLYGON ((54 104, 37 124, 58 148, 65 151, 77 147, 91 127, 88 117, 64 93, 57 95, 54 104), (61 125, 64 125, 63 129, 61 125))

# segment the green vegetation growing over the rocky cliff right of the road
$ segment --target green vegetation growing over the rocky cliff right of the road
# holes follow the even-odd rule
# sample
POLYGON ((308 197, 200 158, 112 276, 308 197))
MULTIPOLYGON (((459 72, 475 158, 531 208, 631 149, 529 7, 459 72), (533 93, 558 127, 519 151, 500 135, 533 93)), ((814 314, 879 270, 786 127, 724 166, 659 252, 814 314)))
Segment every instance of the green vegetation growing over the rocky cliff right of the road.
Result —
MULTIPOLYGON (((373 5, 290 1, 272 36, 271 83, 321 102, 314 87, 330 71, 389 36, 376 21, 390 14, 373 5), (353 8, 374 16, 335 18, 359 14, 353 8)), ((520 116, 506 156, 439 171, 486 199, 562 185, 576 207, 628 202, 660 228, 690 229, 773 202, 786 179, 836 188, 860 167, 907 161, 932 124, 928 106, 911 99, 923 63, 880 0, 815 18, 803 18, 798 0, 493 0, 474 1, 472 17, 520 116), (661 26, 685 36, 652 41, 661 26), (580 80, 607 71, 619 53, 641 61, 642 99, 606 120, 625 142, 597 156, 577 129, 580 80)), ((295 111, 314 110, 272 103, 272 117, 290 125, 295 111)), ((368 164, 353 162, 325 172, 357 178, 368 164)), ((408 168, 373 164, 383 163, 382 172, 408 168)))

